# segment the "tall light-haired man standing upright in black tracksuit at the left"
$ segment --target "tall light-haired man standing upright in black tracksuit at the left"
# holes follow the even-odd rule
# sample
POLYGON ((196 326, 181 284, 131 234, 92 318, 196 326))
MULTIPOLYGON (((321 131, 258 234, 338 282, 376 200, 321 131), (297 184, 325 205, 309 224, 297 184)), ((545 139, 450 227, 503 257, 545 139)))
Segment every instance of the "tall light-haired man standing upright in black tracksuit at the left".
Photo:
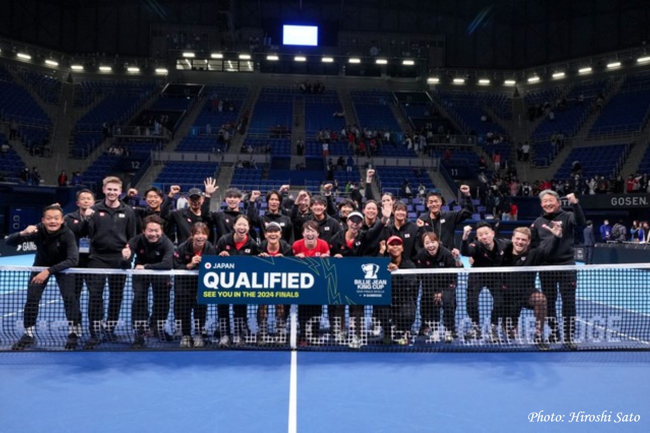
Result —
MULTIPOLYGON (((90 236, 90 257, 88 268, 122 268, 122 249, 129 239, 136 235, 137 217, 130 206, 120 201, 122 181, 109 176, 103 180, 104 200, 86 211, 86 223, 90 236)), ((107 276, 91 275, 88 278, 88 327, 90 339, 86 348, 92 349, 101 343, 101 330, 107 341, 116 341, 114 328, 120 317, 126 276, 110 275, 109 310, 107 322, 104 319, 104 285, 107 276)))

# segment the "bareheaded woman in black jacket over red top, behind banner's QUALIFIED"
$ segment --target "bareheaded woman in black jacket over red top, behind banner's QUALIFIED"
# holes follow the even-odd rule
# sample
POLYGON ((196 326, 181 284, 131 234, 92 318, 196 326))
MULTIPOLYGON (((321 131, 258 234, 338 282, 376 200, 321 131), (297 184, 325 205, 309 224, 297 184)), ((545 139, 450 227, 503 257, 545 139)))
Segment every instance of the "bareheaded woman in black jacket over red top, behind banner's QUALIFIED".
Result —
MULTIPOLYGON (((216 244, 216 254, 222 257, 228 256, 257 256, 259 250, 257 244, 248 235, 250 222, 246 215, 240 214, 235 217, 233 232, 222 236, 216 244)), ((244 343, 246 335, 250 334, 248 329, 248 320, 246 317, 246 305, 233 306, 233 319, 235 322, 235 336, 233 343, 240 345, 244 343)), ((217 312, 219 315, 219 329, 221 337, 219 339, 220 347, 227 347, 230 343, 230 306, 218 305, 217 312)))

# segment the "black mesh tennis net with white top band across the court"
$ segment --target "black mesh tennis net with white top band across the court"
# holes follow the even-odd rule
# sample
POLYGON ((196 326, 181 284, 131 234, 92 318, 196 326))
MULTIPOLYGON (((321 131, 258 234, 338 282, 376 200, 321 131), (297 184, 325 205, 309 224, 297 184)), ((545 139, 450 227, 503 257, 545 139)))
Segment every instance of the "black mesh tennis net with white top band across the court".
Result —
POLYGON ((201 306, 197 272, 40 270, 0 267, 0 350, 650 348, 650 264, 396 270, 391 306, 201 306))

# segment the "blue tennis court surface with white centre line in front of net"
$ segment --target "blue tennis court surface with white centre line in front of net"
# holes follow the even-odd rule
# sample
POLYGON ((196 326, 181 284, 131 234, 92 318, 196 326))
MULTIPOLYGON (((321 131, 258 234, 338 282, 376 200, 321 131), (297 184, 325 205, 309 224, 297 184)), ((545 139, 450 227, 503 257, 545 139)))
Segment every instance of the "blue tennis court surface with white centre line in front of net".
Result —
POLYGON ((650 428, 648 351, 2 352, 0 381, 0 432, 650 428))

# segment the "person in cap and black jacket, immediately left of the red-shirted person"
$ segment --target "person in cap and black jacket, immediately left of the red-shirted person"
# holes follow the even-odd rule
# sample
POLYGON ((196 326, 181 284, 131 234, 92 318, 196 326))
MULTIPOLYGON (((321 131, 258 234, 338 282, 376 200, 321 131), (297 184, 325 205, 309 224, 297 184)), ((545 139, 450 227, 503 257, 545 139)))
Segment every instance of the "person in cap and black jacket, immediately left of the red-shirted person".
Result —
MULTIPOLYGON (((260 257, 287 257, 293 256, 291 245, 282 239, 282 227, 275 221, 269 222, 266 226, 266 239, 259 246, 260 257)), ((289 317, 290 305, 276 305, 276 332, 278 343, 287 342, 287 317, 289 317)), ((257 343, 270 343, 268 336, 268 305, 257 306, 257 343)))

